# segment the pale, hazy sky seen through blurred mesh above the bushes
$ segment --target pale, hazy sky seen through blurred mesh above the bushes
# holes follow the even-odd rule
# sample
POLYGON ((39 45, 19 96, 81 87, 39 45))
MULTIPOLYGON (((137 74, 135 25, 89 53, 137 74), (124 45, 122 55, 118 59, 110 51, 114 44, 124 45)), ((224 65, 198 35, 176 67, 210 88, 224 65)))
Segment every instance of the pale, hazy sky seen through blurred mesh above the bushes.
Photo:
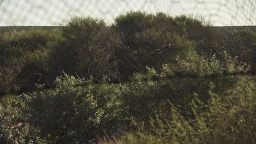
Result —
POLYGON ((107 23, 128 11, 203 16, 212 25, 256 25, 255 0, 0 0, 0 26, 62 25, 72 16, 107 23))

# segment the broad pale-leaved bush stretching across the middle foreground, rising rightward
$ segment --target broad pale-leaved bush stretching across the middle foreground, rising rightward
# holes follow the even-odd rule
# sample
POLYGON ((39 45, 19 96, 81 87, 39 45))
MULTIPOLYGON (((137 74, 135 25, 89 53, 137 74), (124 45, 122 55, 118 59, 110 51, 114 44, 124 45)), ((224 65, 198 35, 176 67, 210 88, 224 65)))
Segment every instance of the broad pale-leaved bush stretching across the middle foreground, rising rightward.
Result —
MULTIPOLYGON (((234 61, 228 63, 231 68, 220 66, 221 71, 212 75, 207 75, 212 65, 206 63, 203 60, 193 63, 203 75, 193 74, 191 65, 177 65, 176 68, 165 66, 160 73, 148 68, 147 74, 134 74, 130 81, 122 84, 108 83, 106 80, 94 83, 94 79, 77 79, 63 74, 56 79, 55 89, 42 89, 28 94, 31 99, 27 102, 29 109, 26 113, 33 113, 33 116, 27 121, 31 126, 38 127, 40 136, 48 142, 87 142, 120 130, 136 130, 138 127, 148 130, 150 116, 157 114, 161 119, 170 117, 169 102, 178 109, 181 117, 193 120, 195 113, 191 109, 191 101, 198 99, 208 104, 211 93, 224 98, 242 80, 250 81, 247 83, 250 85, 255 84, 251 77, 215 76, 224 71, 233 74, 234 61), (204 66, 202 69, 201 65, 204 66), (190 72, 191 76, 185 74, 185 77, 180 77, 176 70, 190 72)), ((219 62, 215 59, 212 63, 219 62)), ((245 82, 243 84, 247 85, 245 82)))

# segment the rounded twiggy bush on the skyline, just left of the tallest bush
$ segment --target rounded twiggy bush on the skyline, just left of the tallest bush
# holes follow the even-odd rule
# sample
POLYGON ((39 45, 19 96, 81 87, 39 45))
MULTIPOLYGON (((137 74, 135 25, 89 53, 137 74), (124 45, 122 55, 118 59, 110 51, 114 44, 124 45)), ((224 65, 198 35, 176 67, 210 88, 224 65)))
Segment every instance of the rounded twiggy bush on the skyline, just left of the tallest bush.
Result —
POLYGON ((65 70, 81 77, 118 78, 114 50, 122 43, 103 20, 74 17, 63 27, 63 37, 50 59, 55 75, 65 70))

